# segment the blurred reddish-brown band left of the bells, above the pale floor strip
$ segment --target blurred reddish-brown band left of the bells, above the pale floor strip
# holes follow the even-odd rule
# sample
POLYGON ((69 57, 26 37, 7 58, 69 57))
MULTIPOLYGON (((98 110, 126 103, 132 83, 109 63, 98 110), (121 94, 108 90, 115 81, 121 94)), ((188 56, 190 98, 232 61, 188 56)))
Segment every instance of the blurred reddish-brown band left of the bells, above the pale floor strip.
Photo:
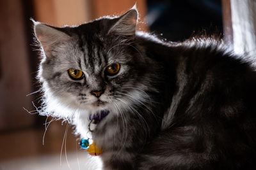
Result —
MULTIPOLYGON (((61 125, 61 121, 56 121, 49 125, 46 132, 45 127, 42 126, 40 129, 23 129, 0 134, 0 160, 60 153, 66 127, 67 124, 61 125)), ((77 138, 72 134, 72 127, 69 127, 66 140, 67 152, 80 150, 77 143, 77 138)))

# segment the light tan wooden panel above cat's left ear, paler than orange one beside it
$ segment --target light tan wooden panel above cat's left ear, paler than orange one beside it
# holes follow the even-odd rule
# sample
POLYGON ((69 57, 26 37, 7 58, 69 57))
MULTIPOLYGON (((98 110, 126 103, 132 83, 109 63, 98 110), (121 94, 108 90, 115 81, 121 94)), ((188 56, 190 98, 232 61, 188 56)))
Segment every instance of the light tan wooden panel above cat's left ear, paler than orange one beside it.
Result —
POLYGON ((35 20, 62 27, 91 20, 88 0, 33 0, 35 20))

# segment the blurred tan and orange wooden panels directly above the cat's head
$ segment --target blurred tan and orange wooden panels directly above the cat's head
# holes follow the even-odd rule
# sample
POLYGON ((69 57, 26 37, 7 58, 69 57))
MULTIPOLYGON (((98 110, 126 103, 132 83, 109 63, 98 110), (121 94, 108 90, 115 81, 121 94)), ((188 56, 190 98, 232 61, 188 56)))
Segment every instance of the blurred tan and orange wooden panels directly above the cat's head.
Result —
MULTIPOLYGON (((137 4, 141 22, 146 15, 146 0, 33 0, 35 20, 61 27, 79 25, 104 15, 120 15, 137 4)), ((140 24, 141 29, 147 27, 140 24)))

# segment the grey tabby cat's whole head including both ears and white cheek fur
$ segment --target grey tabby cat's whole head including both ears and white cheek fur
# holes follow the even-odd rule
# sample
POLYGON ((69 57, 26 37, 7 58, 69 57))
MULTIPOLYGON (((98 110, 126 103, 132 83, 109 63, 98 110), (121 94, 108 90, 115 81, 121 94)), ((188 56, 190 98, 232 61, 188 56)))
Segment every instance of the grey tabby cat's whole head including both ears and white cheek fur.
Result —
POLYGON ((76 27, 35 22, 42 51, 42 113, 67 118, 76 111, 124 110, 145 102, 150 76, 143 50, 134 43, 137 19, 132 8, 76 27))

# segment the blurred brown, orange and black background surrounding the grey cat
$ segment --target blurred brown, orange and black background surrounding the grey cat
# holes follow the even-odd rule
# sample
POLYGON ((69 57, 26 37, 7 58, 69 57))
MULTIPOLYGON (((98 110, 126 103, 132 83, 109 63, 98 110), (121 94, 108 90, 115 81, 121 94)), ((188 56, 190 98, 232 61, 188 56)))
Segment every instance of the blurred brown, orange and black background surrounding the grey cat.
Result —
POLYGON ((135 3, 140 13, 138 30, 169 41, 217 32, 230 46, 234 44, 230 0, 1 0, 0 170, 100 166, 79 148, 72 127, 36 113, 41 94, 33 92, 40 87, 35 78, 39 57, 30 18, 59 27, 79 25, 104 15, 120 15, 135 3))

